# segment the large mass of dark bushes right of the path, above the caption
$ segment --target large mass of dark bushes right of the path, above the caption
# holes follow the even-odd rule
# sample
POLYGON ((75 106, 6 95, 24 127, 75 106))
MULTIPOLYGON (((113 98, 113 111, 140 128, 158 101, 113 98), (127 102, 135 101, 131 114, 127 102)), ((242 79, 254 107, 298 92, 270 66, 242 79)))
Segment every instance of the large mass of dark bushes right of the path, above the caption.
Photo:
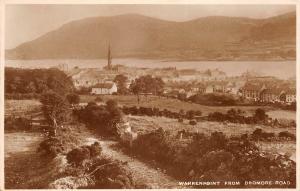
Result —
MULTIPOLYGON (((139 136, 130 150, 147 160, 155 160, 168 173, 186 181, 289 181, 295 187, 296 163, 279 154, 262 152, 247 135, 226 137, 191 133, 182 140, 163 129, 139 136)), ((250 186, 253 187, 253 186, 250 186)), ((255 187, 255 186, 254 186, 255 187)), ((274 186, 263 186, 274 187, 274 186)))

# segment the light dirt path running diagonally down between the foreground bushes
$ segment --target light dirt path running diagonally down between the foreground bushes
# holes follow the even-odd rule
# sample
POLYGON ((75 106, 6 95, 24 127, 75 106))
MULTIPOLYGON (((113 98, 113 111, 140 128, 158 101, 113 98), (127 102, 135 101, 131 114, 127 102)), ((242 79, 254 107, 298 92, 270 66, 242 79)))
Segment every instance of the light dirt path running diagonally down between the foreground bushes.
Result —
POLYGON ((135 158, 129 157, 128 155, 116 151, 111 148, 111 146, 116 141, 109 141, 109 140, 99 140, 96 138, 87 138, 86 144, 92 144, 95 141, 100 142, 102 146, 102 152, 104 155, 110 156, 113 159, 118 159, 123 162, 127 162, 129 168, 132 170, 133 179, 142 182, 151 188, 178 188, 178 181, 174 178, 164 174, 158 169, 155 169, 135 158))

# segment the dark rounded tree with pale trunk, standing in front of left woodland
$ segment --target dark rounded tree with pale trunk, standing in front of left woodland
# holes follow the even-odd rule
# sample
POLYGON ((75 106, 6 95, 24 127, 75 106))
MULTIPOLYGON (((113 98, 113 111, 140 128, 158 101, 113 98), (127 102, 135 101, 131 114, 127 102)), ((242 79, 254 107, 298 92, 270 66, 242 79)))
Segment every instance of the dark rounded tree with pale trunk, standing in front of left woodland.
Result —
POLYGON ((67 101, 58 93, 49 91, 42 94, 40 102, 46 120, 56 132, 59 123, 66 120, 69 111, 67 101))

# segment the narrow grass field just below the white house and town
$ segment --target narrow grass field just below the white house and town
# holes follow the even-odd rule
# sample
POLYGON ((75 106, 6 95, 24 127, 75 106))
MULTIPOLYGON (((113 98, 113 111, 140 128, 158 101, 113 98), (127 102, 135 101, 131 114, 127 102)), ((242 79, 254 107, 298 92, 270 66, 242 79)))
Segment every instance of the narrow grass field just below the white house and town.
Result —
MULTIPOLYGON (((81 95, 80 102, 87 103, 94 101, 97 96, 93 95, 81 95)), ((196 103, 183 102, 178 99, 166 98, 166 97, 157 97, 157 96, 141 96, 141 101, 138 104, 137 98, 134 95, 101 95, 103 101, 113 99, 118 101, 118 103, 123 106, 141 106, 141 107, 157 107, 160 109, 168 109, 171 111, 180 111, 181 109, 187 110, 200 110, 203 115, 208 113, 219 111, 227 112, 231 108, 241 109, 246 112, 246 115, 252 115, 257 108, 263 108, 266 111, 273 111, 274 108, 270 106, 205 106, 196 103)), ((295 113, 295 112, 294 112, 295 113)), ((282 115, 283 117, 285 115, 282 115)))

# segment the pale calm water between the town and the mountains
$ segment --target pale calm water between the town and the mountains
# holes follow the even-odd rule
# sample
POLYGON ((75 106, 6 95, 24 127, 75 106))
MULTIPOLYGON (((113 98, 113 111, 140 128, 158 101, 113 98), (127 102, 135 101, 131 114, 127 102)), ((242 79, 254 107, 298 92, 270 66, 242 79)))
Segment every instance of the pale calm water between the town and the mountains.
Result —
MULTIPOLYGON (((198 70, 219 68, 229 76, 240 75, 247 70, 279 78, 296 76, 296 61, 163 61, 122 58, 113 59, 112 63, 146 68, 176 67, 178 69, 194 68, 198 70)), ((69 69, 75 66, 102 68, 107 64, 107 60, 7 60, 5 64, 6 66, 24 68, 48 68, 59 64, 66 64, 69 69)))

